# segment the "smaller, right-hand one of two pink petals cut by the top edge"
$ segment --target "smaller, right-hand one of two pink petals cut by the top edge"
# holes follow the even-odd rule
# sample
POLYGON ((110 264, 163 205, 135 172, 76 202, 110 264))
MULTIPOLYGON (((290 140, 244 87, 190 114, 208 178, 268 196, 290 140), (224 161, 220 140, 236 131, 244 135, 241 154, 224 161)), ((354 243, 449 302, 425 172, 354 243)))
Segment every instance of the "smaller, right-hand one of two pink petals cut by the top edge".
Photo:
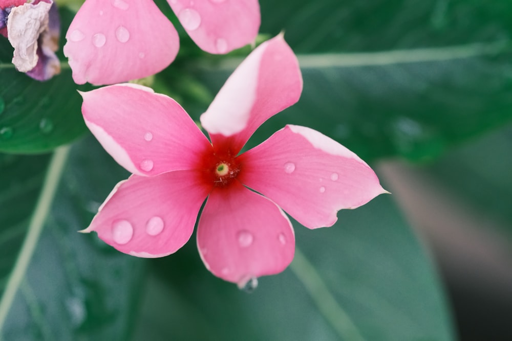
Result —
POLYGON ((224 54, 254 41, 260 28, 258 0, 167 0, 198 46, 224 54))

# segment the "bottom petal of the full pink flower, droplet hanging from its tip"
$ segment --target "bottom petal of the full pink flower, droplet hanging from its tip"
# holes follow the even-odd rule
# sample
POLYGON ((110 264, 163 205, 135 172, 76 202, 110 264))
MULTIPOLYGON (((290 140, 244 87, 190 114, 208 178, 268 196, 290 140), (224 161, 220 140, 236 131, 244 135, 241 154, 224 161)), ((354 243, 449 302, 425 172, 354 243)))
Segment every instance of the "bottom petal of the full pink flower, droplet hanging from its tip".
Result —
POLYGON ((295 252, 288 217, 238 181, 210 193, 199 220, 197 244, 208 270, 242 286, 252 277, 283 271, 295 252))

